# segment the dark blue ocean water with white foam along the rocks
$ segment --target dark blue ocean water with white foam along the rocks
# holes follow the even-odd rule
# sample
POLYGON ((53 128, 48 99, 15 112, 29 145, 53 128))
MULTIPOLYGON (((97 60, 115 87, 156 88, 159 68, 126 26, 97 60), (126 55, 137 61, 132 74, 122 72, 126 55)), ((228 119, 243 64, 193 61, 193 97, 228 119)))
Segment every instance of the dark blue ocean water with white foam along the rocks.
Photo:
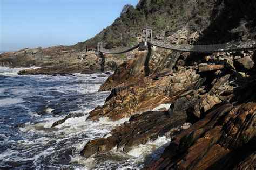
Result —
POLYGON ((162 136, 128 153, 114 148, 85 158, 80 151, 87 141, 103 137, 129 119, 85 121, 110 94, 98 92, 107 77, 97 77, 104 73, 17 75, 22 69, 0 67, 0 168, 142 168, 157 159, 171 140, 162 136), (51 128, 72 112, 84 116, 51 128))

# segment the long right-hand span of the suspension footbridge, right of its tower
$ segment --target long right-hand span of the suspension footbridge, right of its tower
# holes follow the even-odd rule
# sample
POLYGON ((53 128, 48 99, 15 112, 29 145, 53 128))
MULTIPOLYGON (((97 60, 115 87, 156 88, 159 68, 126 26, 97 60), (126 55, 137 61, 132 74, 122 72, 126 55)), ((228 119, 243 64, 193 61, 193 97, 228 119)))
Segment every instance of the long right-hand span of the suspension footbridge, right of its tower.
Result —
POLYGON ((171 49, 173 51, 181 51, 181 52, 228 52, 228 51, 241 51, 241 50, 250 50, 256 48, 256 41, 251 40, 247 42, 227 42, 223 44, 208 44, 208 45, 160 45, 156 42, 149 42, 149 44, 153 46, 157 46, 160 48, 171 49))

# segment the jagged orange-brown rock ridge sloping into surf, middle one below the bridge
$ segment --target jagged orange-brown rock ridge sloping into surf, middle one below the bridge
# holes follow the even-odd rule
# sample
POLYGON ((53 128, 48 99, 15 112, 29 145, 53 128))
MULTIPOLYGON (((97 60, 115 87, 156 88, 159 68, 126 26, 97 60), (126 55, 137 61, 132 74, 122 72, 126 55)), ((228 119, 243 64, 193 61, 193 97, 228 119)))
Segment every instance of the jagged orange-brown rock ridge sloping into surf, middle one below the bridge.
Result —
POLYGON ((113 89, 105 104, 91 111, 87 119, 96 120, 106 116, 117 120, 153 109, 160 104, 172 103, 179 93, 194 86, 198 79, 199 75, 193 69, 180 70, 159 77, 158 80, 150 76, 144 77, 133 86, 113 89))

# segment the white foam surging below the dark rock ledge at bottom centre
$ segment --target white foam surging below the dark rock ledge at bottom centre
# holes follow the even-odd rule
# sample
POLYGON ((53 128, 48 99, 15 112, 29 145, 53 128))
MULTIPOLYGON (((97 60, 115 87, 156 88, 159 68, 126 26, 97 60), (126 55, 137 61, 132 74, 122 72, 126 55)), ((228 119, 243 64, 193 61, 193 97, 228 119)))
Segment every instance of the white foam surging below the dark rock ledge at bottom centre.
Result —
MULTIPOLYGON (((105 133, 106 134, 106 133, 105 133)), ((113 148, 111 151, 107 152, 107 158, 116 157, 122 158, 122 161, 106 160, 100 161, 97 160, 98 155, 92 155, 89 158, 85 158, 81 155, 74 155, 71 158, 70 163, 78 163, 84 165, 83 168, 91 169, 91 168, 107 168, 108 165, 112 165, 114 167, 119 167, 118 169, 134 169, 134 168, 142 168, 144 166, 144 162, 153 161, 160 157, 161 153, 163 153, 164 148, 171 142, 171 138, 167 138, 166 136, 158 137, 156 140, 150 140, 144 145, 139 145, 133 147, 128 153, 123 151, 123 148, 113 148), (144 160, 147 157, 148 160, 144 160), (122 167, 122 168, 120 168, 122 167)), ((82 144, 74 145, 76 150, 83 150, 86 142, 82 144)))

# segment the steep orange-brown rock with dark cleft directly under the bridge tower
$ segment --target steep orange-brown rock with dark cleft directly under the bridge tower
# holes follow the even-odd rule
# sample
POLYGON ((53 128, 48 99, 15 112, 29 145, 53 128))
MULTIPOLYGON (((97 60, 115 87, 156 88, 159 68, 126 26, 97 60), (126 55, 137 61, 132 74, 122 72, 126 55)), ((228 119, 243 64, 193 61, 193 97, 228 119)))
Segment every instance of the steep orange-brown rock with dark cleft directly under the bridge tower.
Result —
POLYGON ((156 75, 164 69, 167 71, 166 75, 170 74, 180 55, 179 52, 170 52, 163 49, 136 52, 134 58, 118 67, 116 72, 100 86, 99 91, 130 86, 143 77, 156 75))

